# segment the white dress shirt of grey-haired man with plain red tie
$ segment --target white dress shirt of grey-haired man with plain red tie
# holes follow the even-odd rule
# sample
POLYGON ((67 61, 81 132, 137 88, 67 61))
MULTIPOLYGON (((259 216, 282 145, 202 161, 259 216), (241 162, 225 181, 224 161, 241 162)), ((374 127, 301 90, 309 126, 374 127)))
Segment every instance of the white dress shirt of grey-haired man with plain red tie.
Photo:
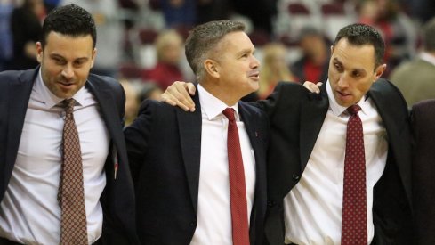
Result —
MULTIPOLYGON (((197 229, 191 245, 232 245, 230 213, 230 179, 227 156, 228 119, 222 114, 227 106, 203 86, 197 86, 202 112, 201 167, 197 199, 197 229)), ((248 220, 254 204, 255 159, 254 151, 240 121, 238 105, 231 106, 236 112, 238 136, 245 168, 248 220)))

